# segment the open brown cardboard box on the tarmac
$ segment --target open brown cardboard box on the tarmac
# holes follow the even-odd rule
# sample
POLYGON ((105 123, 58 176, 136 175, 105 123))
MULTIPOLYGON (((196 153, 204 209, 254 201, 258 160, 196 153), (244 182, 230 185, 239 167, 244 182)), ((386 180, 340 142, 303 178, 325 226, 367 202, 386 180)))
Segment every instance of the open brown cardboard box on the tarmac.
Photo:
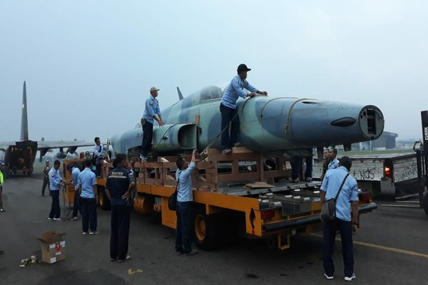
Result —
POLYGON ((45 232, 38 237, 41 242, 41 261, 52 264, 66 259, 66 234, 45 232))

